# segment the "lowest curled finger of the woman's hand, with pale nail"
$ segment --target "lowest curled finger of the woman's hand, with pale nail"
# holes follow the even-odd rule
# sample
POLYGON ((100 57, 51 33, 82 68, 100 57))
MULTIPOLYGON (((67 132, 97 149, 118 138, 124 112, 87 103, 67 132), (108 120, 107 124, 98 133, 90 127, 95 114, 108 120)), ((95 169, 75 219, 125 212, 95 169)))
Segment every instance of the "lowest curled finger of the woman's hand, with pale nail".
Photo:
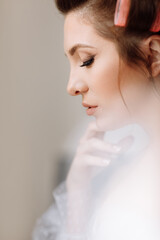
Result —
POLYGON ((85 155, 84 161, 88 166, 107 167, 110 164, 111 159, 85 155))

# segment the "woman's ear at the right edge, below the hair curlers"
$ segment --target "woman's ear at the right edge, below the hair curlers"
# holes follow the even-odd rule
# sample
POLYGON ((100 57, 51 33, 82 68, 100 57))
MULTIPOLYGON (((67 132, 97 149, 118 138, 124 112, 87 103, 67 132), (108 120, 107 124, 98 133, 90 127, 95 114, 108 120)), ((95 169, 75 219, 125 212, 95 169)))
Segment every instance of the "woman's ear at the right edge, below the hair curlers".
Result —
POLYGON ((153 77, 160 75, 160 36, 152 35, 146 40, 149 50, 151 72, 153 77))

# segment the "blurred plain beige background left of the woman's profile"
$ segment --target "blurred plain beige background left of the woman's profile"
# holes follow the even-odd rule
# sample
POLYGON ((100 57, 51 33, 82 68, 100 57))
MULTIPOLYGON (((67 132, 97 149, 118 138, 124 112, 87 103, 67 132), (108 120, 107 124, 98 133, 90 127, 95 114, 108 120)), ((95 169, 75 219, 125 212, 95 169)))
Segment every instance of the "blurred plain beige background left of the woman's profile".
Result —
POLYGON ((0 239, 29 240, 88 121, 53 0, 0 0, 0 239))

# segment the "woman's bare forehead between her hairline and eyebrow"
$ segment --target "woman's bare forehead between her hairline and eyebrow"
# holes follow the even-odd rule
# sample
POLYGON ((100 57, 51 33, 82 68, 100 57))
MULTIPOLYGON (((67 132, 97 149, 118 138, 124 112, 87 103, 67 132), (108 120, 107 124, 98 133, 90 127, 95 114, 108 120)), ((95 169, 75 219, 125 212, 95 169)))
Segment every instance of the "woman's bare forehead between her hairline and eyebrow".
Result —
POLYGON ((68 52, 75 44, 94 45, 101 37, 93 26, 77 13, 69 13, 64 23, 64 50, 68 52))

